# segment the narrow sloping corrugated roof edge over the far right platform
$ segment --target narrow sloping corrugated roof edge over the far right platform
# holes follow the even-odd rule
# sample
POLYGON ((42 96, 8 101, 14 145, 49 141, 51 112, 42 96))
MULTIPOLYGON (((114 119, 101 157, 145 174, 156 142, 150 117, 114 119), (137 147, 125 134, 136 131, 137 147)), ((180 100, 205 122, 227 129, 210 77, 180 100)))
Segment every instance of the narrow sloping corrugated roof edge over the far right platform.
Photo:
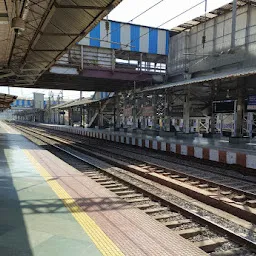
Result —
POLYGON ((235 71, 227 71, 227 72, 212 74, 212 75, 208 75, 208 76, 196 77, 196 78, 192 78, 192 79, 180 81, 180 82, 175 82, 175 83, 168 83, 168 84, 163 84, 163 85, 159 85, 159 86, 151 86, 151 87, 145 88, 145 90, 143 90, 143 92, 164 90, 164 89, 170 89, 170 88, 177 87, 177 86, 199 84, 199 83, 203 83, 203 82, 207 82, 207 81, 237 78, 237 77, 250 76, 250 75, 255 75, 255 74, 256 74, 256 67, 239 69, 239 70, 235 70, 235 71))

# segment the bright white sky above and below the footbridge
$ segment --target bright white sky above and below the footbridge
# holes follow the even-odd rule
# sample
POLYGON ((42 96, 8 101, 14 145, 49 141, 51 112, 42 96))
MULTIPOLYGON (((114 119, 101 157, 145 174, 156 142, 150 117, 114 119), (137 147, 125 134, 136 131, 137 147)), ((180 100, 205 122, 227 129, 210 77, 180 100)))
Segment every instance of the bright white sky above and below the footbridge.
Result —
MULTIPOLYGON (((183 15, 177 18, 175 16, 189 9, 190 7, 202 2, 202 0, 162 0, 154 8, 141 15, 139 18, 134 19, 137 15, 147 10, 149 7, 158 3, 161 0, 123 0, 109 15, 108 18, 111 20, 130 22, 139 25, 159 27, 161 24, 172 19, 170 22, 166 23, 160 28, 171 29, 179 24, 189 21, 195 17, 204 14, 205 5, 200 4, 198 7, 191 9, 183 15), (173 19, 174 18, 174 19, 173 19), (133 20, 134 19, 134 20, 133 20)), ((222 5, 225 5, 232 0, 207 0, 207 11, 214 10, 222 5)), ((20 88, 10 88, 10 93, 24 98, 32 98, 33 92, 44 93, 47 97, 51 90, 40 90, 40 89, 20 89, 20 88)), ((0 92, 8 93, 7 87, 0 87, 0 92)), ((58 90, 53 90, 54 95, 57 97, 59 94, 58 90)), ((93 92, 83 92, 83 97, 89 97, 93 92)), ((63 92, 64 99, 76 99, 79 98, 80 93, 77 91, 67 91, 63 92)))

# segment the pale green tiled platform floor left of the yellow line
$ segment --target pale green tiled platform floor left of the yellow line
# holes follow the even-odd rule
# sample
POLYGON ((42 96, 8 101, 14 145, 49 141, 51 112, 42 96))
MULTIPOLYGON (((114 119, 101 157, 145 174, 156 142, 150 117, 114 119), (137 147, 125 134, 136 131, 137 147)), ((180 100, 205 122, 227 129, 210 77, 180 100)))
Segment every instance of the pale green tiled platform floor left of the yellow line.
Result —
POLYGON ((35 149, 0 127, 0 255, 101 255, 23 149, 35 149))

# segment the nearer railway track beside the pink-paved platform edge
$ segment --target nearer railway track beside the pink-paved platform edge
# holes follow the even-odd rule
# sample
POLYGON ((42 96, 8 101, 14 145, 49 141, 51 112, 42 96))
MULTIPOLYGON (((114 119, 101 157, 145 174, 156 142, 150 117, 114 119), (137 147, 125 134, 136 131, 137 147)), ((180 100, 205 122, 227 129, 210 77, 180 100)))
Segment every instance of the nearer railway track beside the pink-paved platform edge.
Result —
POLYGON ((220 255, 256 255, 256 236, 248 238, 249 230, 224 223, 216 216, 200 214, 200 209, 170 195, 148 179, 120 169, 114 165, 103 168, 102 161, 71 148, 59 139, 35 132, 32 129, 16 127, 30 140, 46 145, 52 153, 74 166, 102 186, 115 192, 126 202, 143 210, 152 218, 193 242, 207 253, 220 255), (100 163, 101 162, 101 163, 100 163), (93 166, 93 167, 92 167, 93 166), (225 227, 233 226, 234 230, 225 227))

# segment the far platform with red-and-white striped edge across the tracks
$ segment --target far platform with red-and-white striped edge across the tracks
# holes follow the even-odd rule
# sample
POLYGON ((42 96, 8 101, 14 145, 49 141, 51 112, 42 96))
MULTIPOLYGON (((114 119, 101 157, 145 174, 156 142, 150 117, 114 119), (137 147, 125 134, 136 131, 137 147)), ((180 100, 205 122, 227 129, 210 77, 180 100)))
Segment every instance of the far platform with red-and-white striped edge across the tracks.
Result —
POLYGON ((256 169, 256 142, 231 144, 223 138, 149 136, 91 128, 32 123, 54 130, 256 169))

